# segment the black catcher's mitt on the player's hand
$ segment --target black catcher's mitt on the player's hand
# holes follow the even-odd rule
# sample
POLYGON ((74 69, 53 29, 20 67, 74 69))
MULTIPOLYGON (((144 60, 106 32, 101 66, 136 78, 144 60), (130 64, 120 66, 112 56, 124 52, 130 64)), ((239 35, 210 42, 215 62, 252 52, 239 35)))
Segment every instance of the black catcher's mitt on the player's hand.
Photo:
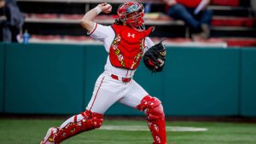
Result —
POLYGON ((152 72, 162 72, 166 61, 166 48, 162 42, 149 48, 143 55, 145 66, 152 72))

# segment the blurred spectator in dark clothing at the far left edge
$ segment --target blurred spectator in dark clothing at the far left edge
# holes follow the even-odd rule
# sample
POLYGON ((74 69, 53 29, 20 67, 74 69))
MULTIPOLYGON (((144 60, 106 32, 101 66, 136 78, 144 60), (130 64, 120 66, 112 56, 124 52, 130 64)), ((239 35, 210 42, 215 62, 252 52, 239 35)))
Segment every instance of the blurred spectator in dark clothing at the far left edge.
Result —
POLYGON ((24 15, 20 13, 15 0, 0 0, 0 40, 18 42, 17 36, 24 24, 24 15))

